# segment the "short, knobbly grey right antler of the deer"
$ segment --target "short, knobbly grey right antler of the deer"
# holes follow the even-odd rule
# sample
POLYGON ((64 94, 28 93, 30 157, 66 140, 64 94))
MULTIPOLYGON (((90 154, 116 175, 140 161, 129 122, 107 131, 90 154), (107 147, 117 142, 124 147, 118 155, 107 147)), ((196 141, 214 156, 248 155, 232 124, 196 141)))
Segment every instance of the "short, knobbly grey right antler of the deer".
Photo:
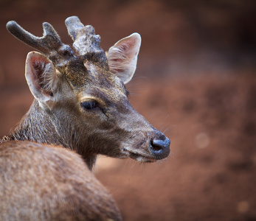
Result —
POLYGON ((100 49, 100 35, 95 35, 94 27, 84 26, 77 16, 66 18, 66 28, 74 41, 73 46, 80 55, 88 52, 102 51, 100 49))

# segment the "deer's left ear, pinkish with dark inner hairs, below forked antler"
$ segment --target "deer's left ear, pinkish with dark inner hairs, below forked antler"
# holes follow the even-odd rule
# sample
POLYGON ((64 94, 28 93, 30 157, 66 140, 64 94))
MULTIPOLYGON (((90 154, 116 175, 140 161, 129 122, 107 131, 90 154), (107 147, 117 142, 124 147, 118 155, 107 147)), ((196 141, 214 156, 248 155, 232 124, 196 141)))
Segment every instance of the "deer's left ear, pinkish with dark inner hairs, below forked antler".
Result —
POLYGON ((52 61, 41 53, 30 52, 27 55, 25 77, 35 99, 41 105, 49 107, 57 88, 57 76, 52 61))

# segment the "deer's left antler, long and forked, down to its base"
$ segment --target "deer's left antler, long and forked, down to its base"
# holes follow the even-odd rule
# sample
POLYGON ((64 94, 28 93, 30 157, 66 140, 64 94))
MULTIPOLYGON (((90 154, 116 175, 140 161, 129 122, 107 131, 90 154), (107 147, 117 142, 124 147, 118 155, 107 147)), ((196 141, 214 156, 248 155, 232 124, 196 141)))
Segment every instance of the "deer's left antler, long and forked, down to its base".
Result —
POLYGON ((27 45, 32 46, 34 49, 38 49, 39 52, 47 55, 52 61, 56 61, 63 56, 73 55, 72 49, 60 41, 58 33, 52 25, 47 22, 44 22, 43 24, 43 37, 32 35, 30 32, 27 32, 19 26, 15 21, 9 21, 6 27, 15 38, 27 43, 27 45))

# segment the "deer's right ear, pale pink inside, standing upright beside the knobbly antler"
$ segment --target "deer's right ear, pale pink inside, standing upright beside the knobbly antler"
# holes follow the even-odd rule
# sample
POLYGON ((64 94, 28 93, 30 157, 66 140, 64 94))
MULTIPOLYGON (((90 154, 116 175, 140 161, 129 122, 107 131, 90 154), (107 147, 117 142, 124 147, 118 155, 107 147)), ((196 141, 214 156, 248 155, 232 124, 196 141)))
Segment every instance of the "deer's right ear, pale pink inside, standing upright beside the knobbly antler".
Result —
POLYGON ((125 84, 134 76, 141 41, 140 35, 134 33, 117 41, 108 50, 109 69, 125 84))

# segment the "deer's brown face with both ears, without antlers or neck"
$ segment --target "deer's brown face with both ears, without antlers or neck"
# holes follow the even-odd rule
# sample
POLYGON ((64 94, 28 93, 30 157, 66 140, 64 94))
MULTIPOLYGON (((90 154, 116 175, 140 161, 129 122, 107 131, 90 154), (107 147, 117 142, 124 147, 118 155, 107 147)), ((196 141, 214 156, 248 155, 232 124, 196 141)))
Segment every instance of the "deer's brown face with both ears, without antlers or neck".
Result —
MULTIPOLYGON (((69 33, 74 34, 70 29, 69 33)), ((63 57, 28 54, 26 79, 30 91, 41 110, 55 122, 67 146, 82 155, 131 157, 142 162, 167 157, 170 140, 128 101, 125 84, 134 75, 140 43, 140 35, 134 33, 107 53, 84 49, 62 65, 56 60, 63 57)), ((83 46, 75 40, 72 52, 80 48, 83 46)))

